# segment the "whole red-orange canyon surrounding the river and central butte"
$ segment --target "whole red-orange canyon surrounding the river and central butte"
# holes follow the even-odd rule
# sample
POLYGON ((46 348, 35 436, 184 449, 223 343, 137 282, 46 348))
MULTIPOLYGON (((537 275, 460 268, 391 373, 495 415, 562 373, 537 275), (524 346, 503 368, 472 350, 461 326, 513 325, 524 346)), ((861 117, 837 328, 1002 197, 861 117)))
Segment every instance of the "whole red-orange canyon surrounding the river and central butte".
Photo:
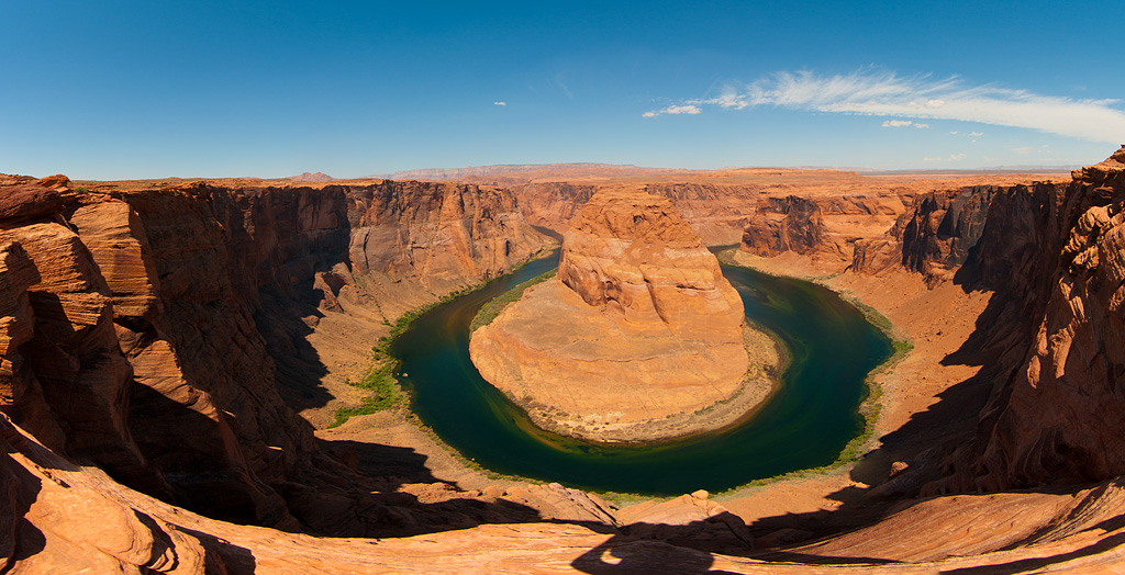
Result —
MULTIPOLYGON (((522 176, 521 176, 522 177, 522 176)), ((611 502, 327 429, 408 310, 554 248, 565 181, 0 176, 9 573, 1019 573, 1125 562, 1125 147, 1058 175, 629 174, 703 244, 873 308, 864 457, 611 502), (734 238, 734 240, 731 240, 734 238)), ((468 180, 468 177, 466 179, 468 180)), ((587 290, 590 291, 590 290, 587 290)), ((577 295, 576 295, 577 296, 577 295)))

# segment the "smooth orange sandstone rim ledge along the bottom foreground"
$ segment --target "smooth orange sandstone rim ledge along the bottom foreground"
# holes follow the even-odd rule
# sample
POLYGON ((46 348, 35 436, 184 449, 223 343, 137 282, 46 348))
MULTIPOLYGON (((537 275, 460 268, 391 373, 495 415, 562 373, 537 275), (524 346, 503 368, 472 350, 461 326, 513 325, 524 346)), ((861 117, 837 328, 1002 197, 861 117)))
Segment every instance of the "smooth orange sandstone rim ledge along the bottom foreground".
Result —
POLYGON ((1119 546, 1125 485, 1119 481, 1073 495, 938 498, 862 531, 781 551, 748 550, 737 537, 747 537, 745 526, 703 494, 638 506, 634 522, 620 529, 540 522, 334 539, 227 523, 169 505, 97 468, 73 465, 0 414, 0 568, 11 573, 673 574, 711 568, 890 575, 1010 573, 1024 566, 1040 573, 1113 573, 1125 559, 1119 546), (706 546, 717 539, 741 544, 741 550, 719 554, 676 545, 706 546))

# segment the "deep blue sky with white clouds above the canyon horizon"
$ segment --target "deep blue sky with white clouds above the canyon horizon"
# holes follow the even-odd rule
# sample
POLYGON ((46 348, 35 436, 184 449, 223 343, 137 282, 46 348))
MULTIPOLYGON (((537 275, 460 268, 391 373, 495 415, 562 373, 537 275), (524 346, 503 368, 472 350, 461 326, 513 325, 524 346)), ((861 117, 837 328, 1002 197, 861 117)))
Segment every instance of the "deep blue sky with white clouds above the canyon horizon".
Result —
POLYGON ((0 0, 0 172, 966 168, 1125 143, 1094 2, 0 0))

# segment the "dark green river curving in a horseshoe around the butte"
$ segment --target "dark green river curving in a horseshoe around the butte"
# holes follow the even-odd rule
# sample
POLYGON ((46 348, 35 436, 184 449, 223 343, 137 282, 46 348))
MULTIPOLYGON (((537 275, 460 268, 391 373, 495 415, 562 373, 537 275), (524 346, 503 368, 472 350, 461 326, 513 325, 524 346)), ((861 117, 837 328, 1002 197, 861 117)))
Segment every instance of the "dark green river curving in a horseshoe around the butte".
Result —
POLYGON ((856 413, 867 373, 890 340, 819 285, 742 267, 722 271, 746 317, 788 348, 781 389, 747 421, 645 446, 596 445, 536 428, 469 360, 468 325, 496 295, 558 264, 532 262, 422 316, 395 343, 413 410, 443 440, 484 467, 573 487, 652 495, 712 492, 827 465, 863 429, 856 413))

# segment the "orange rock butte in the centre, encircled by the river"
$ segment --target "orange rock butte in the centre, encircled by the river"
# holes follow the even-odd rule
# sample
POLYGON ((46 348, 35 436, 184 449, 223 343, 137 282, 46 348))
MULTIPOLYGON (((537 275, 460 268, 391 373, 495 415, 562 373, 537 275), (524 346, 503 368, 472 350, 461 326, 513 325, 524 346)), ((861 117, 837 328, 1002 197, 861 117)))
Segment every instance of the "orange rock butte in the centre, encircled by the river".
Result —
POLYGON ((539 427, 615 442, 729 425, 770 393, 777 364, 714 255, 639 190, 595 194, 557 275, 478 328, 469 353, 539 427))

